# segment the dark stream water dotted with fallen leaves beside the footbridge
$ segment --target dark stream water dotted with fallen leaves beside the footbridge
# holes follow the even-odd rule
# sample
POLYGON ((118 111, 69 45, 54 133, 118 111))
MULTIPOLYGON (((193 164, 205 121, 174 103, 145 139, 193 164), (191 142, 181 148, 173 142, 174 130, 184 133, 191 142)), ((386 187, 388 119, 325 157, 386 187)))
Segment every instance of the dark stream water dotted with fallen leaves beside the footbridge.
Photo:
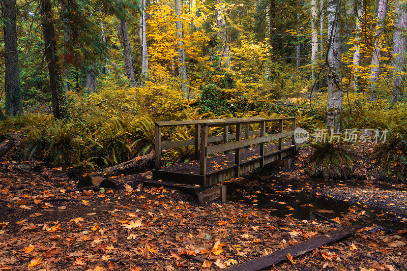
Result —
POLYGON ((267 208, 270 215, 281 218, 289 215, 299 220, 319 219, 312 213, 315 211, 330 219, 341 219, 352 208, 359 212, 360 210, 366 212, 363 218, 352 223, 363 223, 366 226, 374 224, 395 230, 407 227, 395 217, 377 216, 382 214, 381 210, 369 206, 356 207, 345 201, 315 195, 312 190, 319 185, 319 182, 321 179, 309 179, 301 184, 287 185, 277 180, 267 183, 258 180, 258 182, 251 182, 250 187, 244 185, 244 181, 230 182, 227 183, 227 199, 252 204, 256 208, 267 208))

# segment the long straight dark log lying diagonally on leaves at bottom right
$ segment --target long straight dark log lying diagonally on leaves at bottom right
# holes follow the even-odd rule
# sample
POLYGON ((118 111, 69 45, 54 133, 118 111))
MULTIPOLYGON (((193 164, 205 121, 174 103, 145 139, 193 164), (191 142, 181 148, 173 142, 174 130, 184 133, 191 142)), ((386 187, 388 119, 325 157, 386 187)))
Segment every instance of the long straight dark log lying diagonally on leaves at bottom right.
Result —
POLYGON ((353 224, 351 226, 343 226, 337 230, 330 231, 326 234, 318 235, 311 239, 308 239, 304 242, 300 242, 293 246, 278 250, 273 252, 272 254, 259 257, 257 259, 247 261, 233 267, 226 269, 227 271, 238 271, 238 270, 245 270, 245 271, 256 271, 270 265, 279 263, 281 261, 287 260, 287 254, 293 256, 293 258, 298 257, 306 252, 312 251, 319 247, 331 244, 336 242, 337 240, 342 239, 345 236, 348 236, 362 227, 360 224, 353 224))

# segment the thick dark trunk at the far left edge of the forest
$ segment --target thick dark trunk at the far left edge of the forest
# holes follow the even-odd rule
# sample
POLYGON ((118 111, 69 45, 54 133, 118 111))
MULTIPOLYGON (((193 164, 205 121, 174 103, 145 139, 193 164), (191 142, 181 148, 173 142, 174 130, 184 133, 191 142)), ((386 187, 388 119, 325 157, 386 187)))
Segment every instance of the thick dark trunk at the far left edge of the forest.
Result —
POLYGON ((4 14, 4 58, 6 115, 22 112, 20 70, 18 68, 17 48, 17 6, 16 0, 3 1, 4 14))

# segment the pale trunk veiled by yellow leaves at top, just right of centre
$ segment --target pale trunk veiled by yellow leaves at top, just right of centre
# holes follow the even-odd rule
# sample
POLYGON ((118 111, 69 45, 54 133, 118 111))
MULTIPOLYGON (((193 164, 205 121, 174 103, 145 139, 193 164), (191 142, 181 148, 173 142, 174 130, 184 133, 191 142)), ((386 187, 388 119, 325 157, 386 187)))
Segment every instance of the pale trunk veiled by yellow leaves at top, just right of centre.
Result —
POLYGON ((226 25, 226 12, 225 12, 225 4, 223 0, 215 0, 215 17, 216 17, 216 25, 218 27, 218 38, 222 42, 222 49, 220 53, 220 62, 219 66, 222 66, 222 62, 228 68, 230 66, 230 59, 229 59, 229 37, 227 33, 227 25, 226 25))

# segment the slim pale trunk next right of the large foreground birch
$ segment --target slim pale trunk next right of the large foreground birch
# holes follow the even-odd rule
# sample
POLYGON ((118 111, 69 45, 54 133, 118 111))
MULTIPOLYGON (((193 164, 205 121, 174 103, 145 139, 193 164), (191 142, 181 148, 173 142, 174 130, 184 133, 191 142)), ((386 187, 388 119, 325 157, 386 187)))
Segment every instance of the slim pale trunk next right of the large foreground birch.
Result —
POLYGON ((355 33, 355 44, 353 52, 353 81, 352 88, 355 93, 358 92, 358 77, 359 77, 359 64, 360 64, 360 42, 361 42, 361 31, 362 31, 362 16, 363 16, 363 1, 356 0, 356 33, 355 33))

